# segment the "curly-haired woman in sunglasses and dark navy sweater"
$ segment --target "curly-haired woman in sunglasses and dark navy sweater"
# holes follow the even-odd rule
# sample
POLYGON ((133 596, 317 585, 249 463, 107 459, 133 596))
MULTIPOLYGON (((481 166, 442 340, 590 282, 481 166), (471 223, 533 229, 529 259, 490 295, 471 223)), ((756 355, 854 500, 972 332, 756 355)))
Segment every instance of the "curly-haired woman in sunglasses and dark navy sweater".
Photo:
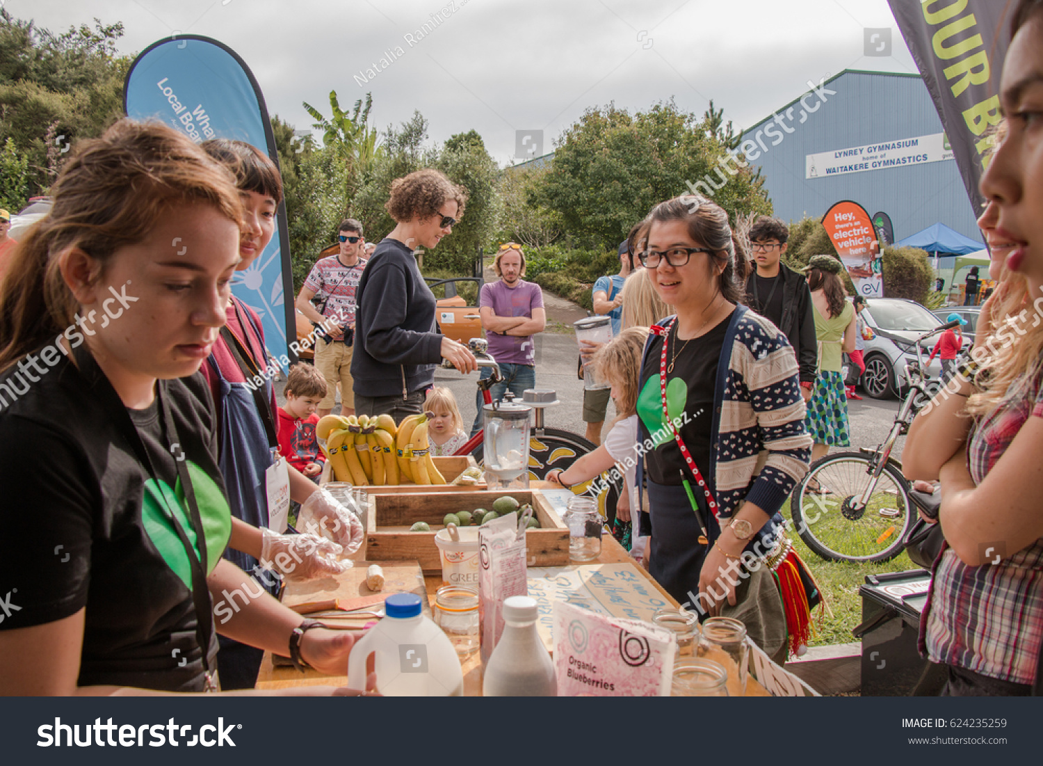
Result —
POLYGON ((432 168, 391 183, 385 207, 396 225, 377 245, 359 281, 351 377, 360 415, 387 413, 401 423, 422 411, 434 365, 442 359, 464 374, 477 368, 467 346, 438 332, 435 295, 413 256, 453 233, 466 201, 462 187, 432 168))

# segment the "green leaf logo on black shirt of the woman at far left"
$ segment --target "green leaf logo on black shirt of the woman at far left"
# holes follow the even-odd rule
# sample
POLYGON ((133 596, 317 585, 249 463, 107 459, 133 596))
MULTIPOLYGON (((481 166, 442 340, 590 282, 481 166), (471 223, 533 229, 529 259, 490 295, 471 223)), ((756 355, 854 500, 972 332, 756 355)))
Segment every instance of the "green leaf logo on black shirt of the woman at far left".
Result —
MULTIPOLYGON (((192 479, 192 486, 195 489, 196 502, 199 503, 199 517, 207 538, 207 574, 210 574, 217 566, 225 546, 228 544, 228 536, 232 533, 232 511, 224 498, 224 493, 207 472, 191 460, 186 464, 192 479)), ((180 479, 177 480, 176 487, 173 489, 165 481, 149 479, 145 482, 144 497, 141 503, 141 518, 145 532, 155 545, 160 555, 163 556, 163 560, 191 591, 192 565, 185 546, 181 545, 181 541, 177 536, 174 522, 170 518, 170 513, 173 512, 177 523, 188 535, 189 542, 192 543, 192 547, 195 548, 196 556, 198 556, 199 544, 195 530, 192 528, 192 518, 187 506, 180 479)))

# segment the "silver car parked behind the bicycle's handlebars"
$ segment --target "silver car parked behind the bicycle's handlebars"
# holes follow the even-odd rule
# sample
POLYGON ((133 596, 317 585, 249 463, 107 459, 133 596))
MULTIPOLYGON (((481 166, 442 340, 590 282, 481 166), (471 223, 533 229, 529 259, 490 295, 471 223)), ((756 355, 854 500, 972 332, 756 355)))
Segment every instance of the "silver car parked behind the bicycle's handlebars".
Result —
MULTIPOLYGON (((873 399, 901 397, 908 385, 905 365, 916 362, 913 341, 944 325, 945 319, 939 319, 915 301, 897 297, 866 298, 862 317, 874 333, 874 337, 866 341, 866 372, 862 376, 862 387, 873 399)), ((966 335, 964 338, 964 345, 969 345, 966 335)), ((924 363, 933 345, 931 341, 937 342, 935 339, 928 341, 924 363)), ((942 362, 936 357, 927 365, 926 374, 938 378, 941 373, 942 362)))

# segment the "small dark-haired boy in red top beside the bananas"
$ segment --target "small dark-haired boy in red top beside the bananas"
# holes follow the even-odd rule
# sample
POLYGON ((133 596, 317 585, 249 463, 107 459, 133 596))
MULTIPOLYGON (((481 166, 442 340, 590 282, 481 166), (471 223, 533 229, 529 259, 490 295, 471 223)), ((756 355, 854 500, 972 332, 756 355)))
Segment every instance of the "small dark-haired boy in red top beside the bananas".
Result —
POLYGON ((326 394, 322 374, 304 362, 290 367, 286 380, 286 405, 278 408, 278 451, 297 471, 318 482, 325 461, 315 435, 315 413, 326 394))

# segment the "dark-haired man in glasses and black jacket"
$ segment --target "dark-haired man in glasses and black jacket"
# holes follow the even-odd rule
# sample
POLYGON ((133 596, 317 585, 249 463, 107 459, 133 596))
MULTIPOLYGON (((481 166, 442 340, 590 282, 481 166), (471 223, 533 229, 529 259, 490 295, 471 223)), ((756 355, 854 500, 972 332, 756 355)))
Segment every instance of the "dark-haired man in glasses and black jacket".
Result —
POLYGON ((755 271, 746 282, 750 308, 774 322, 790 339, 800 365, 800 392, 811 398, 819 366, 811 292, 803 274, 781 262, 790 230, 778 218, 760 216, 750 229, 755 271))

